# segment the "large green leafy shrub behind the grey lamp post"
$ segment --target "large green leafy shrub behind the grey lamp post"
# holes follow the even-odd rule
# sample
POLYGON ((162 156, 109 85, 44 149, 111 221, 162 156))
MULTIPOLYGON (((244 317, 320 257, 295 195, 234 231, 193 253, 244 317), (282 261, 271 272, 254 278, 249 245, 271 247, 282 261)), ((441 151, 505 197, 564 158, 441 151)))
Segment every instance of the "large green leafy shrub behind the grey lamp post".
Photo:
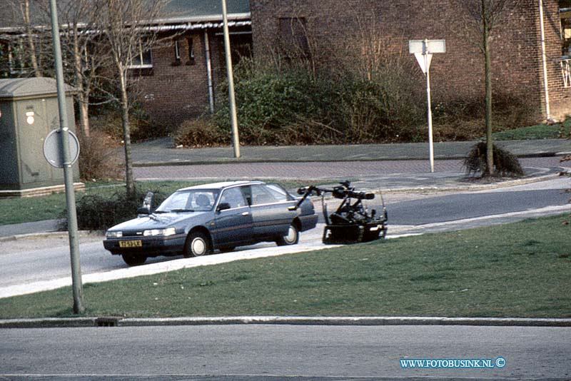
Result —
MULTIPOLYGON (((221 107, 213 123, 225 136, 231 134, 226 83, 220 88, 221 107)), ((275 66, 242 59, 236 68, 236 105, 240 139, 249 144, 295 144, 292 131, 307 121, 329 124, 323 103, 330 98, 328 83, 300 68, 275 66)), ((305 131, 308 133, 311 130, 305 131)))

